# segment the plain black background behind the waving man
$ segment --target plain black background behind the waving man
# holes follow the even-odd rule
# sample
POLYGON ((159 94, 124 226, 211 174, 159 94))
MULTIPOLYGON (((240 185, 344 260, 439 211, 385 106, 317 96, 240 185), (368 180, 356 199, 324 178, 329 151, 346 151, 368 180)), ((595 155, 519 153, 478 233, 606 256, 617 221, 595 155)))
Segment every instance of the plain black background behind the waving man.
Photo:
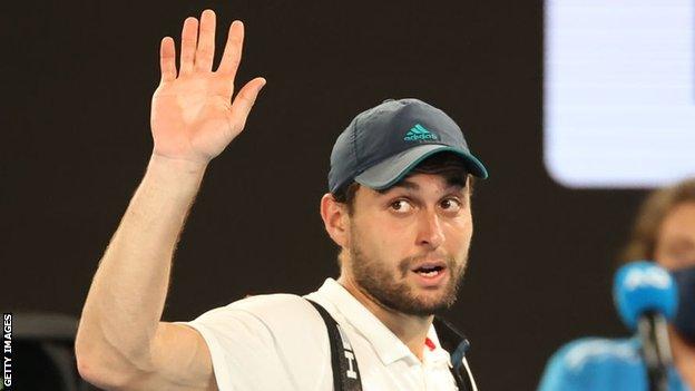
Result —
POLYGON ((164 319, 336 276, 319 201, 335 137, 385 98, 463 128, 491 177, 450 317, 482 390, 531 390, 570 339, 620 335, 610 280, 643 192, 562 188, 542 164, 542 4, 424 1, 4 2, 0 258, 4 311, 78 316, 151 150, 161 37, 213 8, 246 25, 237 85, 268 84, 211 165, 164 319))

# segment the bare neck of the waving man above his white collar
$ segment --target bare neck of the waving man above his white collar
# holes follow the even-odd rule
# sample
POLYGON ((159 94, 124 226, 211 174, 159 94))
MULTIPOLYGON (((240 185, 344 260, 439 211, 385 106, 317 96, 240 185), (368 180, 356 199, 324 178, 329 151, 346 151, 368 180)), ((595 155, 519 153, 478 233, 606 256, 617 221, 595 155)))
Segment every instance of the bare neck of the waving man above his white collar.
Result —
POLYGON ((385 307, 378 300, 364 292, 350 277, 342 275, 337 282, 350 292, 362 305, 376 316, 410 351, 422 361, 424 341, 432 324, 433 316, 408 315, 385 307))

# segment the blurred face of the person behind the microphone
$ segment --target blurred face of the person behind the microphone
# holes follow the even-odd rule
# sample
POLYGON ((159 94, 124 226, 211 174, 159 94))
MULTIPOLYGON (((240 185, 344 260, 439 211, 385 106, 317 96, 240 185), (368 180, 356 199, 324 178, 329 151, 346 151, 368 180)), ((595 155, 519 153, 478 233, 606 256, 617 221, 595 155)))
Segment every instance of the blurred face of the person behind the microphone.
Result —
POLYGON ((695 266, 695 202, 676 205, 664 218, 655 258, 664 267, 695 266))

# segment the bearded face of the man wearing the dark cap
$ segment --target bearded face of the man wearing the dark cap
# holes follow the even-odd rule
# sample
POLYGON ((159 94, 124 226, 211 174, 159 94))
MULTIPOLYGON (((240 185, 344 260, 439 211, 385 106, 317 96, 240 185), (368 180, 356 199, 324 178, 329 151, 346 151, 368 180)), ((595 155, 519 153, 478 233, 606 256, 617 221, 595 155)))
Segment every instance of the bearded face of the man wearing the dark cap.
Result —
POLYGON ((414 174, 384 193, 361 186, 344 266, 382 305, 430 315, 456 301, 472 231, 466 184, 414 174))

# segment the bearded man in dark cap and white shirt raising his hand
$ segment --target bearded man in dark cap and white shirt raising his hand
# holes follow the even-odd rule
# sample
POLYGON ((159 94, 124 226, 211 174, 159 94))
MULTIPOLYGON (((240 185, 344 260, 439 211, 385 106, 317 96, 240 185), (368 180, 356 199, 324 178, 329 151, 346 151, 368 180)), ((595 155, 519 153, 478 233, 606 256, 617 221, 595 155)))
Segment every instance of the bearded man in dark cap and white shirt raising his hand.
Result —
POLYGON ((487 172, 453 120, 417 99, 360 114, 333 147, 321 216, 341 247, 339 281, 305 299, 255 296, 193 322, 160 321, 206 166, 242 131, 265 84, 249 81, 229 106, 243 25, 232 23, 214 72, 212 11, 197 32, 186 19, 178 75, 174 41, 161 41, 154 150, 85 303, 80 374, 114 390, 332 390, 332 317, 354 353, 348 377, 364 390, 454 390, 432 314, 456 299, 472 235, 469 176, 487 172))

